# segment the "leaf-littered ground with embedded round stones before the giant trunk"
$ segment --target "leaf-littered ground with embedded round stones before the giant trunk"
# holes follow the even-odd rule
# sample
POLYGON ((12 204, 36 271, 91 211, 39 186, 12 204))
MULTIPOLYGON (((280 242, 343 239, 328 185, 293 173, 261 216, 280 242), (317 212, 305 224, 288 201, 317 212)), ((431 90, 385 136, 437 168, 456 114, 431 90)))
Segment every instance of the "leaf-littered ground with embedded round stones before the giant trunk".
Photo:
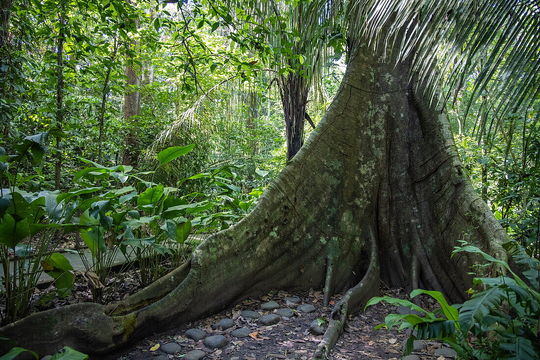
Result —
MULTIPOLYGON (((389 295, 404 298, 406 295, 402 289, 386 289, 381 295, 389 295)), ((341 298, 338 294, 332 298, 331 304, 341 298)), ((298 301, 298 300, 295 300, 298 301)), ((433 303, 429 299, 424 299, 422 303, 426 309, 433 308, 433 303)), ((277 360, 277 359, 311 359, 313 352, 320 343, 322 335, 314 335, 317 319, 328 318, 332 305, 328 308, 322 307, 321 291, 310 290, 305 293, 288 294, 283 291, 269 293, 261 298, 250 298, 235 305, 233 309, 222 311, 211 317, 200 321, 188 323, 161 334, 148 337, 131 348, 124 349, 116 355, 107 356, 112 360, 167 360, 180 358, 184 360, 202 359, 224 359, 224 360, 277 360), (298 304, 291 304, 289 298, 299 299, 298 304), (272 307, 275 303, 282 309, 261 310, 265 305, 272 307), (313 307, 309 305, 313 305, 313 307), (300 308, 299 308, 300 306, 300 308), (307 307, 307 309, 306 309, 307 307), (292 316, 274 316, 274 321, 279 322, 273 325, 262 325, 263 320, 272 320, 272 316, 264 315, 281 314, 292 316), (244 313, 261 318, 242 316, 243 310, 255 311, 254 313, 244 313), (302 313, 301 310, 313 310, 309 313, 302 313), (286 314, 286 313, 289 314, 286 314), (269 319, 270 318, 270 319, 269 319), (224 327, 230 328, 222 330, 214 324, 224 320, 224 327), (227 320, 228 319, 228 320, 227 320), (228 322, 228 324, 226 324, 228 322), (312 331, 310 331, 312 327, 312 331), (186 331, 191 329, 187 334, 186 331), (198 330, 193 330, 198 329, 198 330), (191 339, 192 334, 199 332, 199 341, 191 339), (206 334, 205 334, 206 332, 206 334), (244 334, 241 334, 241 333, 244 334), (187 335, 187 336, 186 336, 187 335), (235 336, 243 337, 235 337, 235 336), (212 336, 212 337, 210 337, 212 336), (211 348, 211 342, 216 343, 220 348, 211 348)), ((330 359, 333 360, 353 360, 353 359, 386 359, 397 360, 401 357, 402 343, 408 336, 405 331, 387 331, 386 329, 374 330, 376 325, 384 322, 384 317, 396 312, 395 305, 381 302, 372 305, 362 313, 349 317, 348 326, 335 345, 330 359)), ((453 350, 444 347, 437 342, 417 342, 415 343, 414 355, 407 357, 407 360, 427 360, 427 359, 453 359, 453 350)), ((105 358, 104 358, 105 359, 105 358)))

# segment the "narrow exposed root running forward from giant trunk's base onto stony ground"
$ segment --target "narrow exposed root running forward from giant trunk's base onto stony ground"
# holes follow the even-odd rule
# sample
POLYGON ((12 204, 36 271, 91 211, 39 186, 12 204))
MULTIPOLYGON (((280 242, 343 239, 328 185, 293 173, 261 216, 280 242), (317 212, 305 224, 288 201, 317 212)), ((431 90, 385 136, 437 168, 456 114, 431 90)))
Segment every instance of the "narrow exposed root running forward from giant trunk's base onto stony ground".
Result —
POLYGON ((368 270, 362 280, 355 287, 350 288, 341 300, 335 304, 330 314, 328 328, 313 354, 313 360, 325 360, 343 332, 349 312, 354 312, 370 298, 379 294, 379 255, 377 254, 373 230, 371 235, 371 254, 368 270))

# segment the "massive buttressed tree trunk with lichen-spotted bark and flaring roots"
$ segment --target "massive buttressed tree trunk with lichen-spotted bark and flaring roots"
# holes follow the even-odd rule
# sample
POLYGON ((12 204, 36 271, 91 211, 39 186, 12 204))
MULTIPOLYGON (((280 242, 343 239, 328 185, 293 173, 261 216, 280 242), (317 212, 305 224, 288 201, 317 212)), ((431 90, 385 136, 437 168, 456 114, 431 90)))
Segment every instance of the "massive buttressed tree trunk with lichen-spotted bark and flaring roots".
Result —
POLYGON ((348 290, 319 359, 379 280, 463 300, 473 259, 450 259, 453 247, 465 240, 505 259, 507 235, 463 171, 446 112, 408 70, 360 47, 319 126, 246 218, 118 304, 69 305, 0 332, 40 355, 62 345, 104 354, 271 289, 348 290))

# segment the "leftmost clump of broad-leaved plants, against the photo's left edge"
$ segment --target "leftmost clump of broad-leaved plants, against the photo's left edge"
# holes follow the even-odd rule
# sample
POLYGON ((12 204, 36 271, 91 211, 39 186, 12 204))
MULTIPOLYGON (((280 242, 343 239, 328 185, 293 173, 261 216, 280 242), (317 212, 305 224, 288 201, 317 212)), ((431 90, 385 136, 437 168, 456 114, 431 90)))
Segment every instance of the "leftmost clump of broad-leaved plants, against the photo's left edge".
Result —
POLYGON ((43 271, 55 279, 62 294, 73 283, 69 262, 64 255, 53 253, 67 225, 63 221, 64 208, 56 201, 59 192, 22 189, 39 176, 36 169, 47 150, 47 141, 48 133, 26 137, 14 146, 11 155, 0 147, 0 295, 6 307, 5 315, 0 314, 3 324, 28 315, 43 271))

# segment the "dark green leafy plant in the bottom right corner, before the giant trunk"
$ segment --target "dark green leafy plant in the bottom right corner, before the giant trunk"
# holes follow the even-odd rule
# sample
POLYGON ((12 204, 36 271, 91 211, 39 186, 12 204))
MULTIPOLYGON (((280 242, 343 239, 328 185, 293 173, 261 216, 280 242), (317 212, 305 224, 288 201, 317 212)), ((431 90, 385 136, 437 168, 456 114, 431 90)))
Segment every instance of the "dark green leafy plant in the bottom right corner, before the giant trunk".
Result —
POLYGON ((516 266, 495 259, 475 246, 456 247, 455 253, 468 252, 484 257, 498 270, 498 276, 476 277, 482 290, 474 291, 470 300, 450 305, 440 291, 417 289, 410 298, 426 294, 440 308, 425 310, 408 300, 374 297, 366 307, 386 301, 417 311, 416 314, 390 314, 375 329, 411 328, 404 355, 413 350, 416 339, 439 339, 450 345, 464 359, 537 359, 540 354, 538 321, 540 318, 540 262, 531 258, 517 242, 506 243, 516 266))

